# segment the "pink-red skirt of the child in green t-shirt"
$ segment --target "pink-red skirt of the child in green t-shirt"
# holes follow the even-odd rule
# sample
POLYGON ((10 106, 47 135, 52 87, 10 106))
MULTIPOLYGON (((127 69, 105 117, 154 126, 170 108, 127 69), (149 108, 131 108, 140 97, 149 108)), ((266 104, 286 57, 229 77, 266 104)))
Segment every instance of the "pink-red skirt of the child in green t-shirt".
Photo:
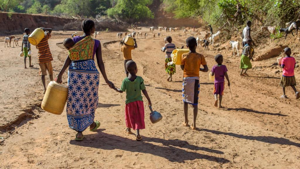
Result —
POLYGON ((136 129, 145 129, 145 112, 144 103, 135 101, 126 104, 125 106, 125 121, 126 127, 136 129))

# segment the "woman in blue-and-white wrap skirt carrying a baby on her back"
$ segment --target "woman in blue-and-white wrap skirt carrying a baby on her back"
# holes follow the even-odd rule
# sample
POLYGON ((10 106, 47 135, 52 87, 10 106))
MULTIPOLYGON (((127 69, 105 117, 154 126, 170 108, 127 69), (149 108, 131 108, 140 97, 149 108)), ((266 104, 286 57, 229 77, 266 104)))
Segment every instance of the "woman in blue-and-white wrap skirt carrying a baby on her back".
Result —
POLYGON ((69 127, 78 133, 75 140, 83 139, 82 131, 90 127, 90 131, 96 131, 100 126, 99 121, 94 121, 95 110, 98 107, 98 87, 100 74, 96 68, 94 56, 96 54, 98 67, 105 82, 114 87, 107 79, 102 60, 100 41, 91 38, 95 32, 95 23, 92 20, 82 22, 82 36, 75 36, 75 45, 70 48, 69 56, 64 62, 57 76, 56 82, 62 82, 62 75, 68 70, 68 98, 67 120, 69 127))

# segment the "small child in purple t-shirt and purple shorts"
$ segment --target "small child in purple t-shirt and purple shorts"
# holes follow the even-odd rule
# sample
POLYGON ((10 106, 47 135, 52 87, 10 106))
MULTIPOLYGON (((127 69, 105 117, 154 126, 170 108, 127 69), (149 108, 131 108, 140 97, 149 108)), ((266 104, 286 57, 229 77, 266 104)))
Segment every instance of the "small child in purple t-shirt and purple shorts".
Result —
POLYGON ((217 65, 214 65, 211 69, 211 75, 214 75, 214 106, 218 106, 218 95, 219 95, 219 108, 223 108, 221 106, 222 96, 225 88, 225 78, 228 81, 228 86, 230 87, 229 77, 227 75, 227 68, 223 63, 223 56, 221 54, 217 54, 214 57, 214 60, 217 62, 217 65), (225 77, 225 78, 224 78, 225 77))

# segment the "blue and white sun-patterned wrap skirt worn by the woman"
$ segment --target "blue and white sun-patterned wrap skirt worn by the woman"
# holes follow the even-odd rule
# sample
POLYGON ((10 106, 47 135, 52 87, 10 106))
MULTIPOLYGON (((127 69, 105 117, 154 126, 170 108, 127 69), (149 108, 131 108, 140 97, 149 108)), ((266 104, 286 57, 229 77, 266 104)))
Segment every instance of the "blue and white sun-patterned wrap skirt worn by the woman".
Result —
POLYGON ((72 61, 68 70, 67 120, 82 132, 94 122, 98 107, 99 72, 94 60, 72 61))

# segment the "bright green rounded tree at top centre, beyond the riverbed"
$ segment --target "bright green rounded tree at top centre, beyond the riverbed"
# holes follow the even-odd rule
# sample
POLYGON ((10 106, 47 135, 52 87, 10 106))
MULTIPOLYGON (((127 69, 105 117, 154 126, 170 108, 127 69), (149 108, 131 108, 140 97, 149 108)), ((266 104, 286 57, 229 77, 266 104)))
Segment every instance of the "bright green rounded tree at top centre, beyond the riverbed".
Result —
POLYGON ((147 7, 152 0, 119 0, 114 8, 107 10, 108 16, 134 22, 137 20, 154 18, 153 13, 147 7))

